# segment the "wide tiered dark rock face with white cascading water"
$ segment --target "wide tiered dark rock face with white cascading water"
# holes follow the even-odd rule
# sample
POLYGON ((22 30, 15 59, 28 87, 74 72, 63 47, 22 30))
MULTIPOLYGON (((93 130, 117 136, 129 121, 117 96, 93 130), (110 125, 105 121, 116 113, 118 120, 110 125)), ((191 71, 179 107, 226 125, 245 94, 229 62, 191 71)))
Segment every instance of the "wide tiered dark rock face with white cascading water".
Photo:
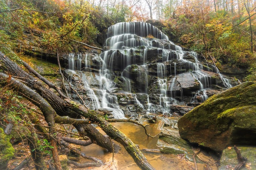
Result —
MULTIPOLYGON (((66 75, 91 109, 105 108, 115 117, 183 115, 232 86, 203 57, 173 44, 148 23, 112 25, 103 49, 100 56, 70 54, 66 75)), ((78 100, 76 94, 71 96, 78 100)))

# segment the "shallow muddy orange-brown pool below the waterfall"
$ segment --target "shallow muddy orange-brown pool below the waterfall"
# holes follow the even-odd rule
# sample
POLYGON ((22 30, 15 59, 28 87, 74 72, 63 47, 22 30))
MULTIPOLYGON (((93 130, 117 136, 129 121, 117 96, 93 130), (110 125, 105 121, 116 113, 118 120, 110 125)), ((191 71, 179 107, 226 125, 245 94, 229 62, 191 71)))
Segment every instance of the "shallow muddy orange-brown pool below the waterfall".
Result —
MULTIPOLYGON (((136 124, 130 122, 117 122, 111 123, 121 132, 123 132, 128 138, 130 138, 135 144, 140 146, 140 149, 159 149, 156 147, 158 140, 157 135, 155 138, 147 138, 144 129, 136 124)), ((148 123, 147 123, 148 124, 148 123)), ((147 131, 151 136, 155 136, 159 131, 154 127, 154 124, 150 124, 153 127, 147 127, 147 131)), ((105 134, 99 127, 97 129, 105 134)), ((115 141, 116 142, 116 141, 115 141)), ((120 145, 120 144, 119 144, 120 145)), ((70 169, 95 169, 95 170, 140 170, 136 165, 132 157, 126 152, 122 145, 118 153, 114 154, 114 162, 112 162, 112 153, 109 153, 108 150, 92 144, 89 146, 81 146, 81 151, 88 156, 96 157, 105 162, 105 165, 101 167, 88 167, 88 168, 76 168, 71 165, 70 169)), ((156 152, 143 152, 145 157, 148 159, 149 163, 156 170, 192 170, 195 169, 194 162, 190 162, 186 159, 182 159, 177 155, 165 154, 165 153, 156 153, 156 152)), ((79 163, 91 162, 90 160, 84 159, 81 157, 79 163)), ((204 164, 197 163, 199 170, 206 169, 204 164)), ((212 167, 212 169, 217 169, 212 167)))

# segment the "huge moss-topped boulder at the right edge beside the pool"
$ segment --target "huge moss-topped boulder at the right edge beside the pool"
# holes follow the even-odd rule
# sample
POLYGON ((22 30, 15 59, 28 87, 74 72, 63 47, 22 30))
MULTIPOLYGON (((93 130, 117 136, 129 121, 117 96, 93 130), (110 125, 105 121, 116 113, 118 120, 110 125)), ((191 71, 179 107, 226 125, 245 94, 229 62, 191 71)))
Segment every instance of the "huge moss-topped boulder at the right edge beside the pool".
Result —
POLYGON ((256 82, 208 98, 178 121, 180 137, 217 152, 227 145, 255 145, 256 82))

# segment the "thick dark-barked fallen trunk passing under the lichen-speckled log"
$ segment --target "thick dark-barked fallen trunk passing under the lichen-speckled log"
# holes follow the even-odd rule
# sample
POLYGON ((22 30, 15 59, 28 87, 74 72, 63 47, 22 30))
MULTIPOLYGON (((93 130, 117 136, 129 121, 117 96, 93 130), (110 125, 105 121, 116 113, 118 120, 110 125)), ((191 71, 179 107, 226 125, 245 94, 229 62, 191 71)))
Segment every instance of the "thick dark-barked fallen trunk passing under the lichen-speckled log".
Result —
MULTIPOLYGON (((15 62, 10 60, 7 56, 5 56, 3 53, 0 52, 0 60, 4 62, 4 66, 0 66, 0 68, 3 68, 7 73, 10 73, 12 75, 16 75, 18 77, 24 77, 25 80, 28 83, 28 86, 32 89, 35 89, 44 99, 47 100, 47 102, 52 106, 52 108, 56 111, 56 113, 59 116, 69 116, 72 118, 81 118, 81 115, 77 115, 76 111, 67 110, 68 103, 60 98, 60 96, 57 96, 54 92, 51 90, 45 88, 40 81, 26 73, 24 70, 22 70, 15 62)), ((24 61, 23 61, 24 62, 24 61)), ((27 67, 29 71, 32 73, 35 73, 36 71, 33 70, 31 67, 27 67)), ((37 77, 40 77, 40 74, 36 74, 37 77)), ((41 77, 40 77, 41 78, 41 77)), ((45 81, 45 80, 44 80, 45 81)), ((45 81, 46 84, 50 84, 49 82, 45 81)), ((49 87, 52 87, 52 85, 49 85, 49 87)), ((62 95, 63 96, 63 95, 62 95)), ((66 99, 66 98, 65 98, 66 99)), ((54 119, 52 119, 54 120, 54 119)), ((76 125, 75 125, 76 127, 76 125)), ((108 138, 104 137, 95 127, 93 127, 91 124, 82 124, 79 125, 79 129, 77 129, 80 136, 88 136, 91 137, 93 143, 108 149, 109 152, 112 152, 112 145, 108 138), (81 129, 81 131, 80 131, 81 129), (84 129, 88 130, 86 133, 84 129)), ((114 144, 114 151, 118 152, 120 149, 120 146, 117 144, 114 144)))

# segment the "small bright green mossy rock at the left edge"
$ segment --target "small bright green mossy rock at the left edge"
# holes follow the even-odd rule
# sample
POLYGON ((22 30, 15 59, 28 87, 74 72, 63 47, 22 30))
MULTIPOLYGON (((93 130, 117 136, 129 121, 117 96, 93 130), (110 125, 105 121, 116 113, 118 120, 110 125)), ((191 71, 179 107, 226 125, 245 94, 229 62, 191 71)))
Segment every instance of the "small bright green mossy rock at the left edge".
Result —
POLYGON ((10 143, 11 135, 4 134, 4 130, 0 128, 0 169, 6 169, 7 163, 14 155, 14 149, 10 143))

